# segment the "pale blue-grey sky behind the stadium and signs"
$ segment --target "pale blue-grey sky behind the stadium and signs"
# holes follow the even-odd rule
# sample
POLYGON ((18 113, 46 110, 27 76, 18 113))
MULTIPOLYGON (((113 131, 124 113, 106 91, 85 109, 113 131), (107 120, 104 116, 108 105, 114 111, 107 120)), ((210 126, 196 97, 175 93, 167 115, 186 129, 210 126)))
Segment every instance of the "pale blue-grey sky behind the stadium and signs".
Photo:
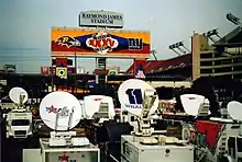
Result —
MULTIPOLYGON (((78 27, 78 14, 109 10, 124 14, 125 30, 151 31, 152 47, 160 59, 175 57, 168 45, 184 40, 190 48, 193 31, 219 28, 224 35, 235 26, 226 20, 242 18, 242 0, 1 0, 0 63, 15 63, 19 72, 40 72, 51 65, 51 26, 78 27)), ((94 59, 79 59, 90 70, 94 59)), ((127 69, 131 60, 109 60, 127 69)))

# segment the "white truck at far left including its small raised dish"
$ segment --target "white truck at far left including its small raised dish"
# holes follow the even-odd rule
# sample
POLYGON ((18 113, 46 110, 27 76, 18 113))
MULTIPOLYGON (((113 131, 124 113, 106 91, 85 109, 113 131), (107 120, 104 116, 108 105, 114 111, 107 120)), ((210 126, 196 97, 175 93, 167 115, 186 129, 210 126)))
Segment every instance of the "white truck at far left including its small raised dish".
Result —
POLYGON ((6 114, 7 138, 28 138, 32 136, 32 113, 23 107, 28 101, 26 91, 22 88, 12 88, 9 96, 18 108, 6 114))

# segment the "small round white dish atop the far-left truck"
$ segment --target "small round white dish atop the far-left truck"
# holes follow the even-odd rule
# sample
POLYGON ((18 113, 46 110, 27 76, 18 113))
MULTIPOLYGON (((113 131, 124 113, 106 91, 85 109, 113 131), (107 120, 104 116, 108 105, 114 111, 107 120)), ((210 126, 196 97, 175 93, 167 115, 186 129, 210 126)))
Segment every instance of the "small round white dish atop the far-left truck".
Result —
POLYGON ((28 102, 28 93, 24 89, 22 88, 12 88, 9 91, 9 97, 11 99, 12 102, 16 104, 24 104, 28 102), (20 103, 20 99, 22 97, 22 103, 20 103))

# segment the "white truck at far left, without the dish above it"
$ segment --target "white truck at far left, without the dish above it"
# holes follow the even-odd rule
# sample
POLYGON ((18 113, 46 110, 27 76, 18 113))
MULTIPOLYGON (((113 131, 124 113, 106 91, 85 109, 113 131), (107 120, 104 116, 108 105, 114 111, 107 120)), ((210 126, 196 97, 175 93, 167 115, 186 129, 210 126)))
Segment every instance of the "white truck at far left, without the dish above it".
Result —
POLYGON ((26 109, 12 109, 7 114, 7 138, 32 136, 32 114, 26 109))

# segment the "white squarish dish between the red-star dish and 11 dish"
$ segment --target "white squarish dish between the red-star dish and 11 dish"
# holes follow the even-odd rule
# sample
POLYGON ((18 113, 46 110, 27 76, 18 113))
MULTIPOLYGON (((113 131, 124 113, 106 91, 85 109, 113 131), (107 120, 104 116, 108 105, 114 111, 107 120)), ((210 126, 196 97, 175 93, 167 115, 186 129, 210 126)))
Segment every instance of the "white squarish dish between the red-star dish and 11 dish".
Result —
POLYGON ((109 118, 112 118, 116 115, 113 100, 111 96, 88 95, 84 97, 84 108, 86 113, 86 118, 91 119, 94 114, 99 112, 101 103, 108 103, 109 118))

